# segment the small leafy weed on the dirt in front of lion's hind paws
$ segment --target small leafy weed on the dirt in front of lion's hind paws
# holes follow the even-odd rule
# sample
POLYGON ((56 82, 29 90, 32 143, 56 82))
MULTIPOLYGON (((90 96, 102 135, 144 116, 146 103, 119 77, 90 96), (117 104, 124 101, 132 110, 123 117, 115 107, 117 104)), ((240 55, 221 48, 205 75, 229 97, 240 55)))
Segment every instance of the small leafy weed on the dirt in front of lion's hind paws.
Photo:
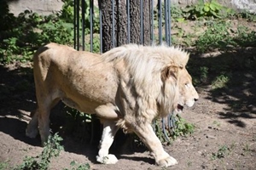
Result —
POLYGON ((49 168, 50 159, 60 155, 63 147, 61 146, 61 137, 55 133, 49 136, 44 144, 44 150, 39 156, 25 156, 23 163, 15 167, 15 170, 47 170, 49 168))

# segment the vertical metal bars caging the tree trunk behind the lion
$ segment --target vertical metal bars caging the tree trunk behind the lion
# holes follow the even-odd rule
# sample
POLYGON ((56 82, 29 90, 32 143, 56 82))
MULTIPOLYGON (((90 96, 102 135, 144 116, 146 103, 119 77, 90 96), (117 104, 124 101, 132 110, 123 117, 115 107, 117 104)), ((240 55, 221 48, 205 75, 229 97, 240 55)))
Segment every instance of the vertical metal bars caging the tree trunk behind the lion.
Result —
MULTIPOLYGON (((107 0, 106 0, 107 1, 107 0)), ((114 48, 117 45, 117 40, 115 39, 115 26, 116 26, 116 20, 115 20, 115 13, 113 12, 116 8, 115 3, 116 1, 121 0, 108 0, 111 1, 111 8, 109 10, 112 10, 112 47, 114 48)), ((140 0, 139 7, 140 8, 140 44, 144 45, 144 39, 143 39, 143 3, 146 2, 145 0, 140 0)), ((87 50, 90 52, 94 52, 93 46, 95 42, 94 34, 99 35, 99 53, 102 54, 102 1, 95 1, 93 0, 74 0, 74 19, 73 19, 73 25, 74 25, 74 48, 77 50, 87 50), (98 10, 96 10, 98 8, 98 10), (98 16, 98 22, 95 23, 96 15, 98 16), (90 19, 90 26, 86 26, 86 20, 90 19), (98 24, 99 31, 95 31, 95 24, 98 24), (85 29, 90 29, 90 36, 85 35, 85 29), (87 36, 87 37, 86 37, 87 36), (90 37, 90 40, 88 40, 88 37, 90 37), (87 42, 85 41, 87 40, 87 42), (87 48, 86 48, 87 47, 87 48)), ((167 45, 171 45, 171 0, 150 0, 150 43, 151 44, 162 44, 165 42, 167 45)), ((126 15, 127 15, 127 40, 126 43, 131 42, 131 0, 126 0, 126 15)), ((156 123, 156 122, 154 122, 156 123)), ((162 131, 165 134, 166 141, 169 141, 169 137, 166 131, 172 131, 174 128, 175 119, 174 116, 171 114, 166 119, 161 120, 161 127, 162 131)), ((154 124, 155 125, 155 124, 154 124)))

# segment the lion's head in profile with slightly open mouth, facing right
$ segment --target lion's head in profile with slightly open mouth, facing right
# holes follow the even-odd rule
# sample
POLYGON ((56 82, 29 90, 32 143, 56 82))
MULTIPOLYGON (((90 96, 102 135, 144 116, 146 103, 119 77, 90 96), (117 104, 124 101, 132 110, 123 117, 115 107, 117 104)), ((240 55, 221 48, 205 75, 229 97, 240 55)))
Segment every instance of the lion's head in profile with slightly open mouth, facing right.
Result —
POLYGON ((186 64, 186 62, 178 65, 172 63, 161 72, 161 79, 164 82, 161 116, 166 116, 172 111, 180 113, 183 111, 184 105, 191 107, 199 98, 192 84, 192 78, 185 68, 186 64), (169 99, 173 100, 170 101, 169 99))

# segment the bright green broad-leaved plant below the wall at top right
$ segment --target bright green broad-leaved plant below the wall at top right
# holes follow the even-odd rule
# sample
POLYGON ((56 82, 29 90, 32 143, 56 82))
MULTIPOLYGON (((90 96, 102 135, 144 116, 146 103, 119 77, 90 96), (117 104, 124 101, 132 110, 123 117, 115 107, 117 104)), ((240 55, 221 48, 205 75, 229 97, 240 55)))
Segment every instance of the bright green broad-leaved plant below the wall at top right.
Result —
POLYGON ((187 14, 189 20, 196 20, 202 17, 223 18, 227 14, 233 13, 230 8, 222 6, 216 0, 209 2, 199 0, 197 4, 185 8, 183 12, 187 14))

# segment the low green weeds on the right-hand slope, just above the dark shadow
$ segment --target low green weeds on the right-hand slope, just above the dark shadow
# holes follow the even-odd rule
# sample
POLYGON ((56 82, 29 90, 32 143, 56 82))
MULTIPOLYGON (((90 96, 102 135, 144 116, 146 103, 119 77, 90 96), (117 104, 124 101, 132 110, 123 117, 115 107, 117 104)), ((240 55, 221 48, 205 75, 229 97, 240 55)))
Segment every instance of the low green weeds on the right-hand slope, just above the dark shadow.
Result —
POLYGON ((229 50, 232 47, 256 46, 256 31, 245 26, 232 29, 230 22, 224 20, 207 23, 207 30, 195 42, 200 52, 213 49, 229 50), (218 33, 216 33, 218 32, 218 33))

